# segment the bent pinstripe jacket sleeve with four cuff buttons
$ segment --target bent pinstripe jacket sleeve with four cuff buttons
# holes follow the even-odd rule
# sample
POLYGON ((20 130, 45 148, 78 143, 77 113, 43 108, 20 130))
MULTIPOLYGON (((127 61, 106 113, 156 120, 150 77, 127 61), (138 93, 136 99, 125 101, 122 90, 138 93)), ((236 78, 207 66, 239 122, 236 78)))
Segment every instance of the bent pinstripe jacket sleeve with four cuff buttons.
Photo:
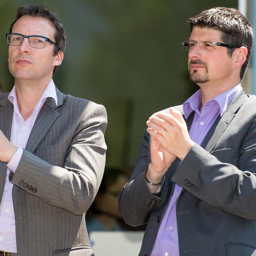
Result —
POLYGON ((71 143, 63 153, 64 159, 52 154, 52 159, 56 157, 54 163, 64 163, 62 167, 61 164, 50 164, 24 149, 16 172, 10 175, 11 182, 47 204, 76 215, 83 214, 94 200, 102 180, 106 125, 104 106, 94 104, 82 111, 78 126, 70 134, 71 143))

